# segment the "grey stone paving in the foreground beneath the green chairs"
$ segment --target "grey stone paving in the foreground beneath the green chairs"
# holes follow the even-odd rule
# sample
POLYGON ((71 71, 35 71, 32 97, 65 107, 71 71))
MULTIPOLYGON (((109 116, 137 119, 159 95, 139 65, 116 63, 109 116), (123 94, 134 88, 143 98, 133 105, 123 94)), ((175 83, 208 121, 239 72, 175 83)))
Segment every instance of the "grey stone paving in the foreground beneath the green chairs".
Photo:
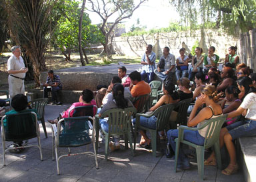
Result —
MULTIPOLYGON (((45 118, 56 118, 67 105, 46 106, 45 118)), ((103 145, 99 149, 99 169, 95 169, 95 161, 92 155, 77 155, 61 159, 61 175, 57 175, 56 162, 51 159, 51 128, 47 123, 49 137, 46 139, 41 128, 41 143, 43 148, 43 161, 40 160, 37 148, 28 148, 23 153, 7 153, 7 166, 2 165, 2 153, 0 154, 0 181, 201 181, 197 175, 197 165, 192 163, 189 170, 173 170, 174 161, 167 159, 159 152, 158 157, 153 157, 150 151, 137 149, 135 157, 132 157, 129 149, 121 147, 121 150, 110 152, 109 161, 105 161, 103 145)), ((29 143, 36 143, 32 139, 29 143)), ((1 143, 2 151, 2 143, 1 143)), ((160 146, 161 147, 161 146, 160 146)), ((71 149, 81 151, 85 147, 71 149)), ((92 150, 92 147, 90 147, 92 150)), ((64 153, 67 149, 60 149, 64 153)), ((163 151, 163 150, 162 150, 163 151)), ((243 173, 231 176, 222 175, 217 167, 205 167, 205 181, 244 181, 243 173)))

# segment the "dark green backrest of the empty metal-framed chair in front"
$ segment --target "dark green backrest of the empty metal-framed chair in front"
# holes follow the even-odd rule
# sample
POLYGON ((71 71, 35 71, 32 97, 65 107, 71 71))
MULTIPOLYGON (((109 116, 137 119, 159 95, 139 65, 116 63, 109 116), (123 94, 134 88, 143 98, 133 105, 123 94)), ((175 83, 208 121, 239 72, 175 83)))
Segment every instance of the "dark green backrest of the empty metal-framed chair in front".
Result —
POLYGON ((63 118, 57 124, 57 145, 59 147, 77 147, 91 143, 89 137, 91 116, 63 118))

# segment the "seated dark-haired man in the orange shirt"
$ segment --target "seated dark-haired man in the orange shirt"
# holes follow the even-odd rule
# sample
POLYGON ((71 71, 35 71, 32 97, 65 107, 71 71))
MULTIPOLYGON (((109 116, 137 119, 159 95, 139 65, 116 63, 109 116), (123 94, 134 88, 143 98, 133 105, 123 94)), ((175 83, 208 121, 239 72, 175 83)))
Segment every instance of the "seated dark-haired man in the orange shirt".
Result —
MULTIPOLYGON (((151 88, 148 83, 141 80, 141 74, 139 74, 139 72, 137 71, 131 72, 129 76, 131 78, 130 88, 131 88, 131 96, 133 96, 133 98, 138 96, 143 96, 145 94, 150 94, 151 88)), ((137 108, 138 106, 137 103, 133 103, 133 105, 135 106, 135 108, 137 108)))

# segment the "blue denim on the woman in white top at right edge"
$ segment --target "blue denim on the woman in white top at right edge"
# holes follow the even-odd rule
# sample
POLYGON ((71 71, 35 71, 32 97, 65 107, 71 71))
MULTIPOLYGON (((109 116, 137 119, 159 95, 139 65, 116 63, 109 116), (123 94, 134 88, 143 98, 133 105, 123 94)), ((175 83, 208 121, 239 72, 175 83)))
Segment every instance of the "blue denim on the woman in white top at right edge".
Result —
POLYGON ((231 135, 232 139, 256 136, 256 121, 253 120, 235 122, 226 128, 229 130, 229 134, 231 135))

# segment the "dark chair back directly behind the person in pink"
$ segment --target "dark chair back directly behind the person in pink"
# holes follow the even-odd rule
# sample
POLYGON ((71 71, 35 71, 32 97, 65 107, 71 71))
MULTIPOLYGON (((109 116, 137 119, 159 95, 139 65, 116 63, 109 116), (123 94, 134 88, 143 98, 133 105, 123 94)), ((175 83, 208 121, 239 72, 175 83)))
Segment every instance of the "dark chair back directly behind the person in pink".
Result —
POLYGON ((97 106, 94 106, 94 105, 79 106, 79 107, 72 108, 71 110, 69 110, 69 117, 70 117, 71 111, 73 111, 72 117, 78 117, 78 116, 93 117, 94 116, 93 108, 96 108, 96 110, 97 110, 97 106))

